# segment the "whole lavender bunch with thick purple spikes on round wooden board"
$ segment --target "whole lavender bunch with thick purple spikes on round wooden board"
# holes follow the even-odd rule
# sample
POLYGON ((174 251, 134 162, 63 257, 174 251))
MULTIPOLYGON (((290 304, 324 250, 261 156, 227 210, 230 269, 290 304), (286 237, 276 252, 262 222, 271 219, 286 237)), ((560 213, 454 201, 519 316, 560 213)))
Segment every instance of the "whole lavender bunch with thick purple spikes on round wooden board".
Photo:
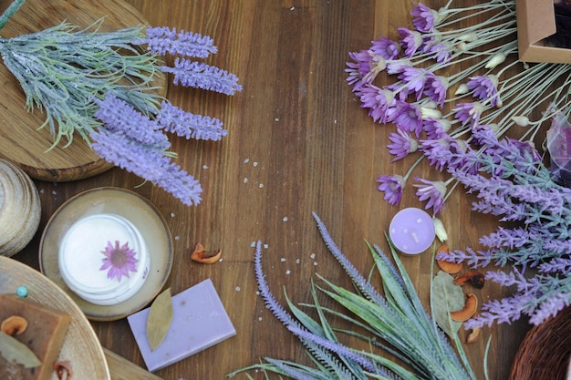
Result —
MULTIPOLYGON (((0 16, 0 27, 23 0, 0 16)), ((186 205, 201 201, 202 188, 171 162, 165 132, 186 139, 218 140, 226 136, 217 118, 193 115, 157 94, 153 80, 173 73, 174 84, 234 95, 238 78, 218 67, 188 57, 216 53, 209 36, 168 27, 133 26, 99 32, 101 21, 86 29, 61 24, 37 33, 0 37, 0 56, 26 94, 26 107, 46 114, 54 143, 74 135, 88 141, 96 153, 114 165, 150 180, 186 205), (180 55, 176 67, 162 55, 180 55), (181 63, 182 64, 178 64, 181 63)))

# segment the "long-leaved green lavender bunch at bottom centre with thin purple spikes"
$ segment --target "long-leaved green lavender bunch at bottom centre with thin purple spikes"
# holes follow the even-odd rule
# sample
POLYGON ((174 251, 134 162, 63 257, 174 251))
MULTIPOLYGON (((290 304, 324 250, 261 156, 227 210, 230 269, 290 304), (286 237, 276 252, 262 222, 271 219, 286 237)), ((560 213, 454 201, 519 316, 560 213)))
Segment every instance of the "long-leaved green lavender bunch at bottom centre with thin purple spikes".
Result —
POLYGON ((314 303, 306 305, 317 311, 318 320, 311 318, 289 300, 287 303, 293 315, 288 313, 281 304, 277 303, 265 281, 261 265, 261 242, 258 241, 254 263, 260 294, 275 317, 306 345, 307 354, 316 367, 266 357, 265 363, 238 370, 230 376, 246 370, 259 369, 266 375, 272 372, 299 380, 364 380, 369 378, 473 380, 476 378, 458 336, 453 335, 457 350, 455 351, 446 335, 437 327, 430 314, 424 310, 408 273, 391 244, 389 245, 392 261, 389 256, 380 251, 378 246, 369 245, 369 251, 373 255, 382 279, 383 295, 337 248, 325 224, 315 213, 314 218, 327 248, 348 273, 358 293, 339 287, 320 277, 325 286, 312 283, 314 303), (321 306, 317 293, 327 295, 350 313, 346 314, 321 306), (356 329, 352 331, 336 329, 329 324, 328 315, 337 316, 358 328, 363 328, 370 336, 358 334, 356 329), (371 352, 339 343, 337 333, 365 340, 371 346, 371 352), (375 354, 374 348, 395 355, 400 362, 397 363, 375 354))

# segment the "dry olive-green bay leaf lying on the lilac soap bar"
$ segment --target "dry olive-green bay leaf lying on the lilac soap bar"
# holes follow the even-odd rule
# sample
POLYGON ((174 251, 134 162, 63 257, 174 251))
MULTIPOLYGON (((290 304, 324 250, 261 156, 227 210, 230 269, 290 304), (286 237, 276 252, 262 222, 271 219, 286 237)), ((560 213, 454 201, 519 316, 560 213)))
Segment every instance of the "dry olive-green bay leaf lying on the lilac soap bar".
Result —
POLYGON ((171 288, 168 288, 155 298, 147 317, 147 340, 151 351, 161 345, 169 333, 172 324, 171 288))

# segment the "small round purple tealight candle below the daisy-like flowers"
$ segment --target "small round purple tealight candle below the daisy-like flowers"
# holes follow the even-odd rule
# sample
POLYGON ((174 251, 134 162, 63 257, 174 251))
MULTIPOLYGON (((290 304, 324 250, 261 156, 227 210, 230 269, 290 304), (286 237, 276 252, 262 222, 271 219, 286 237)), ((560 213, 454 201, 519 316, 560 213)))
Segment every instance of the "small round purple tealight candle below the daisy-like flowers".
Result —
POLYGON ((395 247, 403 253, 417 254, 431 246, 436 232, 431 216, 420 209, 403 209, 392 218, 389 236, 395 247))

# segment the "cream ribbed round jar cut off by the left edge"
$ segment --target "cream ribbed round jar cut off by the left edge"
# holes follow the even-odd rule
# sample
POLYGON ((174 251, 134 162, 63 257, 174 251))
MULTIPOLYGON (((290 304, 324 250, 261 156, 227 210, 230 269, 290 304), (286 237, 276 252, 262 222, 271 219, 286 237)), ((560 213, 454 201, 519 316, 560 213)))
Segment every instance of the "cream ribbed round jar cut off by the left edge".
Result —
POLYGON ((36 234, 41 204, 36 185, 24 170, 0 159, 0 254, 13 256, 36 234))

